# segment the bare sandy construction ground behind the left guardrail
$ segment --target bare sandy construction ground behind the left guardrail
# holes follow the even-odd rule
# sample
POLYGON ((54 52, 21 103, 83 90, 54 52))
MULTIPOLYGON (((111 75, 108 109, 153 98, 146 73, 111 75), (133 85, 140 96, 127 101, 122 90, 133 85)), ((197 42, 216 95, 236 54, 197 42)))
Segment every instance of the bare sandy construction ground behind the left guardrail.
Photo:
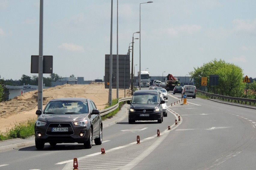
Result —
MULTIPOLYGON (((112 89, 112 99, 117 98, 116 89, 112 89)), ((10 101, 0 102, 0 133, 14 128, 19 123, 36 119, 38 91, 30 91, 17 96, 10 101)), ((102 82, 90 84, 64 84, 43 90, 43 108, 53 98, 90 98, 97 109, 102 110, 108 105, 109 90, 102 82)), ((118 97, 124 98, 124 89, 118 90, 118 97)), ((126 90, 129 97, 129 90, 126 90)))

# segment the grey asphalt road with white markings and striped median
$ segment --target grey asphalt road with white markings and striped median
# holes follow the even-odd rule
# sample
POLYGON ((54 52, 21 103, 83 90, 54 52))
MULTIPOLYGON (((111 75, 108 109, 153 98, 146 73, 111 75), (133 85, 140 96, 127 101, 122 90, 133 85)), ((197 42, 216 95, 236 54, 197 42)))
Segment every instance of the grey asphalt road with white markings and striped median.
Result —
MULTIPOLYGON (((201 98, 187 98, 188 104, 182 104, 180 97, 169 93, 168 116, 161 124, 139 121, 130 125, 124 114, 123 120, 103 128, 102 145, 84 149, 81 144, 57 144, 45 145, 42 151, 35 146, 3 151, 0 170, 73 169, 74 158, 78 158, 79 170, 255 169, 255 110, 201 98), (178 115, 181 120, 175 125, 178 115)), ((124 109, 128 113, 127 105, 124 109)))

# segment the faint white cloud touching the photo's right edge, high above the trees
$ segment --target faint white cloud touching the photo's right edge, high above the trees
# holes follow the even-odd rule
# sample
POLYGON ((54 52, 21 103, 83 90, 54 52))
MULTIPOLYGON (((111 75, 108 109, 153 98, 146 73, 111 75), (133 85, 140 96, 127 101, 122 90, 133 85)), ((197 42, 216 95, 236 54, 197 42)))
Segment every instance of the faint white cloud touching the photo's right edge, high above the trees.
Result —
POLYGON ((251 21, 249 19, 235 19, 233 20, 233 24, 235 24, 235 27, 233 29, 235 32, 256 34, 256 20, 251 21))

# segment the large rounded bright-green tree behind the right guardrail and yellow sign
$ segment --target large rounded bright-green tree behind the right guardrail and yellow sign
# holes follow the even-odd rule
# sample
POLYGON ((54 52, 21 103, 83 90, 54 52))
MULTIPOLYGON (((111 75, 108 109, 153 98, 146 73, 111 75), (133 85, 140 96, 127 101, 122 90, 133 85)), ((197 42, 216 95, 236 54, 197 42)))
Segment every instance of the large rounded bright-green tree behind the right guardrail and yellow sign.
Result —
POLYGON ((234 64, 226 63, 221 59, 214 59, 209 63, 204 63, 203 66, 197 67, 197 69, 194 68, 194 71, 189 72, 189 74, 194 78, 195 85, 199 89, 201 87, 201 77, 207 77, 206 88, 208 92, 216 92, 220 95, 241 97, 245 89, 245 84, 242 83, 242 69, 234 64), (210 75, 219 75, 218 86, 210 86, 210 75))

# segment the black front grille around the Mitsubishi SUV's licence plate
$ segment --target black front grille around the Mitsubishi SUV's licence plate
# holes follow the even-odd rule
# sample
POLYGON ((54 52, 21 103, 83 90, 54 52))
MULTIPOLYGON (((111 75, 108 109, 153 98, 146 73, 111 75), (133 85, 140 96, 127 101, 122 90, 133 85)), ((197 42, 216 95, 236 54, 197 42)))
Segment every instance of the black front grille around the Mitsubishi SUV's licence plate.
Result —
POLYGON ((50 123, 46 130, 46 135, 73 135, 74 130, 70 123, 50 123), (52 128, 69 128, 68 132, 52 132, 52 128))

